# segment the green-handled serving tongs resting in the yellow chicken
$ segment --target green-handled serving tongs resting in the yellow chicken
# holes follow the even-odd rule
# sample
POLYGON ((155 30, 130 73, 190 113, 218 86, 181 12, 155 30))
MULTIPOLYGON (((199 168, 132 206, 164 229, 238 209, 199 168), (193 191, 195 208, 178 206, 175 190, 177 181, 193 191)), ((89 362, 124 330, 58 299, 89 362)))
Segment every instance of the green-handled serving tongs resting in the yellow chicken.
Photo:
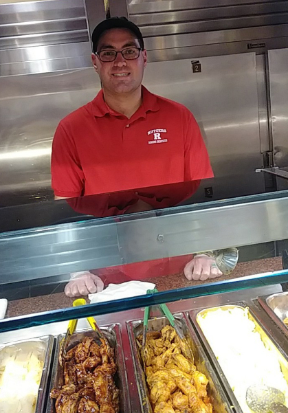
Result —
MULTIPOLYGON (((147 294, 154 294, 154 293, 158 293, 158 292, 159 291, 157 290, 157 288, 155 288, 153 290, 147 290, 146 291, 147 294)), ((166 304, 158 304, 158 306, 159 306, 159 309, 162 311, 163 315, 165 315, 165 317, 168 319, 168 322, 170 323, 170 326, 175 328, 175 331, 176 331, 176 333, 177 333, 177 335, 179 336, 179 339, 180 339, 180 346, 181 346, 182 353, 184 354, 184 356, 186 356, 188 359, 190 359, 190 361, 194 362, 194 356, 192 355, 192 351, 190 350, 190 346, 188 345, 186 336, 184 335, 183 331, 181 331, 181 328, 179 328, 175 318, 173 317, 173 314, 168 309, 168 306, 166 306, 166 304)), ((146 350, 146 336, 147 336, 147 327, 148 327, 148 319, 150 317, 150 311, 151 311, 150 306, 145 307, 144 320, 143 320, 143 335, 142 335, 142 358, 143 358, 143 361, 145 359, 146 352, 147 352, 147 350, 146 350)))

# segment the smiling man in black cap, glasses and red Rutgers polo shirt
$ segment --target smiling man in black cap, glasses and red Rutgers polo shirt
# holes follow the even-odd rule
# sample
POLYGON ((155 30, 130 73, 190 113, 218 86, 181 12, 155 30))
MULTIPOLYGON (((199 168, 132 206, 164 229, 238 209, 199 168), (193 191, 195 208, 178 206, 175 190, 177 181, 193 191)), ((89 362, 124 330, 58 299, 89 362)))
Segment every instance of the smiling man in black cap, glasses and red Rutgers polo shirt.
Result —
MULTIPOLYGON (((139 28, 125 18, 102 21, 92 34, 93 67, 102 89, 61 120, 52 146, 55 199, 133 190, 213 176, 192 113, 142 86, 146 49, 139 28)), ((157 208, 145 196, 121 205, 119 214, 157 208)), ((188 279, 221 276, 214 260, 197 256, 188 279)), ((67 284, 67 295, 93 293, 102 280, 89 272, 67 284)))

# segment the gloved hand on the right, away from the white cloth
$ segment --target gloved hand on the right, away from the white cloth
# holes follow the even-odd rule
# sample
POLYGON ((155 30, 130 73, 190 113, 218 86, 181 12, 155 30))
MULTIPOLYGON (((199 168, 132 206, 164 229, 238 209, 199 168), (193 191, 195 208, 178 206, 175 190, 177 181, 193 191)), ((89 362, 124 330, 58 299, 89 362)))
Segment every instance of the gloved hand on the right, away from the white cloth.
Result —
POLYGON ((217 278, 223 275, 214 258, 206 254, 196 255, 190 263, 186 264, 184 274, 187 280, 195 281, 205 281, 208 278, 217 278))

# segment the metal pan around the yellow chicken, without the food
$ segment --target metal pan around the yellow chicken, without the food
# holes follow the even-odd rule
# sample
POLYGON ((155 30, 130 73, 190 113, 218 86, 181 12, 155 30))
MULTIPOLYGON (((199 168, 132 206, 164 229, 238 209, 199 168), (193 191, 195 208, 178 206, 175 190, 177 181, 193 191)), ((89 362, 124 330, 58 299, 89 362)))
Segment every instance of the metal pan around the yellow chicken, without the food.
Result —
MULTIPOLYGON (((174 316, 179 328, 181 328, 181 331, 183 331, 184 335, 187 337, 188 344, 195 358, 195 366, 197 367, 197 370, 206 375, 209 380, 208 395, 213 405, 213 411, 215 413, 234 412, 231 403, 228 400, 228 397, 221 387, 219 379, 212 369, 206 353, 201 348, 201 344, 195 331, 192 329, 190 322, 188 322, 186 318, 186 315, 184 315, 183 313, 178 313, 174 316)), ((168 324, 169 322, 166 317, 153 318, 152 320, 148 320, 147 331, 161 331, 161 329, 168 324)), ((140 349, 136 342, 138 335, 141 335, 143 332, 142 320, 128 322, 127 328, 132 348, 133 364, 135 369, 135 377, 137 379, 138 392, 140 394, 140 400, 142 401, 142 412, 153 413, 153 408, 148 397, 148 387, 146 385, 146 377, 142 367, 140 349)))

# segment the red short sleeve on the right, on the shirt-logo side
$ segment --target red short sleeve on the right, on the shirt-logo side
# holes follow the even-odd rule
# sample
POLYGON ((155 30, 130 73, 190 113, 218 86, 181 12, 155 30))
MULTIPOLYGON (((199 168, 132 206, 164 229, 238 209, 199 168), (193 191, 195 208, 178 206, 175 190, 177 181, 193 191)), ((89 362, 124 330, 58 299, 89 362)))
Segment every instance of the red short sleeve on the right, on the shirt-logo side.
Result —
POLYGON ((184 181, 195 181, 214 177, 208 151, 199 125, 189 113, 188 128, 184 137, 184 181))

